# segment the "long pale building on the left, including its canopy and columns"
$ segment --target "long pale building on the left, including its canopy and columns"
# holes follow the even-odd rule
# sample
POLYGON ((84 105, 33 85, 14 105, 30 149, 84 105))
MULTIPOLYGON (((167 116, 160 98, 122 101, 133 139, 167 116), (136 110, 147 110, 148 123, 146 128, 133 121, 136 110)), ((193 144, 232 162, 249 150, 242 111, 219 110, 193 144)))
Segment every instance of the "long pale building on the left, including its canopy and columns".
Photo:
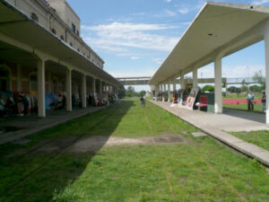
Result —
POLYGON ((72 110, 76 101, 86 107, 89 94, 116 92, 120 83, 80 37, 80 18, 65 0, 0 0, 0 19, 2 98, 35 97, 30 103, 45 117, 52 95, 72 110))

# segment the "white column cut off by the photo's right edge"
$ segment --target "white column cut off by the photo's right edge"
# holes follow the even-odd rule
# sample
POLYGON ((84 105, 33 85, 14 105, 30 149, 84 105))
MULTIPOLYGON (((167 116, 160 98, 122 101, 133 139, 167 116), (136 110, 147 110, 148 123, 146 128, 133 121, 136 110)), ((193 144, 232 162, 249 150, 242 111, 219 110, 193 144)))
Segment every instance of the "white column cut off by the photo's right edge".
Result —
POLYGON ((266 125, 269 126, 269 22, 265 27, 265 94, 266 94, 266 125))

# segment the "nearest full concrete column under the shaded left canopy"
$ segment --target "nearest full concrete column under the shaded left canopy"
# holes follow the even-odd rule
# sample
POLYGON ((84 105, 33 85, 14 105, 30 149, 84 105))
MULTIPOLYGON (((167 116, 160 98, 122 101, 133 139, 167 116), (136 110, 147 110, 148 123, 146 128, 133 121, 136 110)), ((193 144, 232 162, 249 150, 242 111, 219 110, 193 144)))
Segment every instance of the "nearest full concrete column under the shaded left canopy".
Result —
POLYGON ((46 117, 45 106, 45 60, 39 60, 38 62, 38 107, 39 117, 46 117))

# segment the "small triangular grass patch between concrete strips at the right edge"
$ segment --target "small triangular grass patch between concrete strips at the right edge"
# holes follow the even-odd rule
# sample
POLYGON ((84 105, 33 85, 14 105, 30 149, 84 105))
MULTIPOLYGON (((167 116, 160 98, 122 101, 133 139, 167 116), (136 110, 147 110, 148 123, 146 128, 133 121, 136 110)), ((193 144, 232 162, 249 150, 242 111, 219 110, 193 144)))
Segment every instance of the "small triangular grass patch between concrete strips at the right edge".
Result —
POLYGON ((234 132, 231 134, 269 151, 269 131, 234 132))

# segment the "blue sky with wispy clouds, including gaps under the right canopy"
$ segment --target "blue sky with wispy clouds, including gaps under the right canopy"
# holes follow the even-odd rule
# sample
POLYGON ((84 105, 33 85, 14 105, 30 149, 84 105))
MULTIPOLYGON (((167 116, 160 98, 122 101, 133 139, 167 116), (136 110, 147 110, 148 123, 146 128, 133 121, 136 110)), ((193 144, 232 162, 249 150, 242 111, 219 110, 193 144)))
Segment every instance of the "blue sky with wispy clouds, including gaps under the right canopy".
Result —
MULTIPOLYGON (((193 21, 204 0, 67 0, 82 21, 82 39, 102 57, 105 70, 116 77, 152 76, 193 21)), ((222 0, 269 6, 269 0, 222 0)), ((223 77, 244 77, 262 70, 264 42, 239 51, 222 62, 223 77)), ((213 77, 213 65, 198 77, 213 77)), ((149 90, 135 86, 136 91, 149 90)))

